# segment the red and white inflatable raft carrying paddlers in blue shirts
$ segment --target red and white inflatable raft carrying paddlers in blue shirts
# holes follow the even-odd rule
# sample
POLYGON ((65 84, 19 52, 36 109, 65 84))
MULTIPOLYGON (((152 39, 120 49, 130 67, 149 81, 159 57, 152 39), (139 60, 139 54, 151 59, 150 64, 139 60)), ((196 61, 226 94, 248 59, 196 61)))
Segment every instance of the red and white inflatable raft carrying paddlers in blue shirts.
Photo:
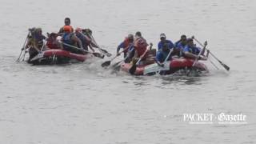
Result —
MULTIPOLYGON (((194 66, 192 66, 194 63, 193 59, 187 59, 187 58, 174 58, 170 62, 166 62, 165 68, 162 68, 161 66, 157 66, 156 63, 150 64, 148 66, 137 66, 135 75, 151 75, 155 74, 155 72, 152 72, 150 74, 150 68, 157 68, 159 71, 159 74, 174 74, 178 70, 184 70, 188 69, 190 70, 192 67, 194 70, 198 71, 206 71, 208 72, 208 69, 205 64, 202 62, 196 62, 194 66)), ((130 63, 122 63, 121 70, 126 71, 129 73, 131 64, 130 63)), ((154 70, 153 70, 154 71, 154 70)))

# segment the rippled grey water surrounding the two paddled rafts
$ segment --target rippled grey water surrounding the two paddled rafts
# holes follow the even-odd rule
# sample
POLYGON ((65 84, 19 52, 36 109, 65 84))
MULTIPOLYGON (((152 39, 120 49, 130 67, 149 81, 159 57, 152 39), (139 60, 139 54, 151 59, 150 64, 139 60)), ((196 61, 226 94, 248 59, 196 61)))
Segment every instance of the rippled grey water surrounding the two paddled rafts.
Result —
MULTIPOLYGON (((0 143, 255 143, 256 1, 1 0, 0 143), (27 29, 90 27, 114 53, 137 30, 194 35, 231 70, 202 77, 110 74, 97 62, 15 63, 27 29), (245 125, 190 125, 184 113, 246 114, 245 125)), ((213 59, 214 60, 214 59, 213 59)), ((215 61, 216 64, 218 62, 215 61)), ((218 65, 220 69, 222 66, 218 65)))

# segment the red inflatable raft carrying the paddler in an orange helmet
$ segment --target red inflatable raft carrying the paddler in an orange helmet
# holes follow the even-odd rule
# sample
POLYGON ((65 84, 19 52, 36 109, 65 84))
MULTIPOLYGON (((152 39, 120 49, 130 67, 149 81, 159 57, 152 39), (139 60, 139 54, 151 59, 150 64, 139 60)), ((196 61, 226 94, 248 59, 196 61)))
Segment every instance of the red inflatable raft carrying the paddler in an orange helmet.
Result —
POLYGON ((84 62, 88 58, 93 58, 93 54, 74 54, 66 50, 50 49, 42 51, 30 63, 34 65, 63 64, 69 62, 84 62))

